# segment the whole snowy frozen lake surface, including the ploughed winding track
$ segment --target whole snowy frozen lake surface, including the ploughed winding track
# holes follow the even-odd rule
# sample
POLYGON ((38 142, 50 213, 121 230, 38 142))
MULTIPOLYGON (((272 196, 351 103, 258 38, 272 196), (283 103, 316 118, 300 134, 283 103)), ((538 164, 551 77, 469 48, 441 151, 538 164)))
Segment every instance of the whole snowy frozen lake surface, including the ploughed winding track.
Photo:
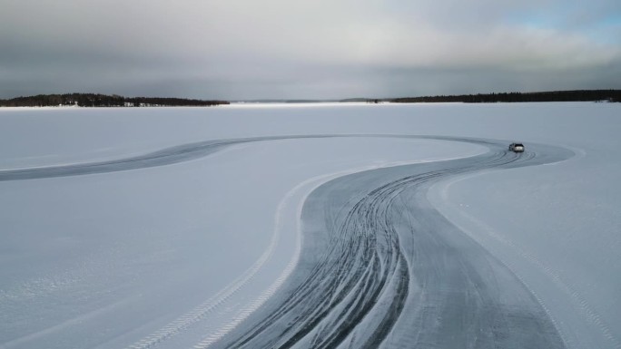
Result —
POLYGON ((618 115, 0 109, 0 348, 621 348, 618 115))

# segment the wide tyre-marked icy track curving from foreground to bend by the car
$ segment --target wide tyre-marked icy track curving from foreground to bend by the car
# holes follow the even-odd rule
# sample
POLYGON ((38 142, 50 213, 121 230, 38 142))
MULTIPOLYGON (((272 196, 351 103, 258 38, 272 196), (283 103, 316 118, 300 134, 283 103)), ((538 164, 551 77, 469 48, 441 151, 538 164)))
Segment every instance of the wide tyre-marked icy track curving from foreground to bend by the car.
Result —
POLYGON ((535 145, 516 154, 507 142, 452 141, 490 151, 355 173, 313 191, 291 282, 214 347, 565 347, 537 297, 426 193, 449 176, 565 160, 571 151, 535 145))

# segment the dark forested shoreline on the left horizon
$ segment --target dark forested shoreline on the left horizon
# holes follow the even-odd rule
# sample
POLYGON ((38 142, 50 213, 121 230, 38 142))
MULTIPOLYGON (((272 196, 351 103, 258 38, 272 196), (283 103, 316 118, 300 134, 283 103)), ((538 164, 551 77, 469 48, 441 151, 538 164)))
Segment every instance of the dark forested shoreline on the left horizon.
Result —
POLYGON ((36 96, 0 100, 0 106, 2 107, 70 105, 78 107, 208 107, 218 104, 229 104, 229 102, 188 100, 183 98, 123 97, 116 94, 106 95, 99 93, 39 94, 36 96))

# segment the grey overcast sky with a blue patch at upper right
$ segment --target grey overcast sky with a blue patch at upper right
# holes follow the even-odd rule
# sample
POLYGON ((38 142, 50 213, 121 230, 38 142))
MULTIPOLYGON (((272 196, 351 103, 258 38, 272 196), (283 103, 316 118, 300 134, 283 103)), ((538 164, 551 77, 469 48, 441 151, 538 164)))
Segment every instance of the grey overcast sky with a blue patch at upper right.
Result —
POLYGON ((0 0, 0 98, 621 88, 619 0, 0 0))

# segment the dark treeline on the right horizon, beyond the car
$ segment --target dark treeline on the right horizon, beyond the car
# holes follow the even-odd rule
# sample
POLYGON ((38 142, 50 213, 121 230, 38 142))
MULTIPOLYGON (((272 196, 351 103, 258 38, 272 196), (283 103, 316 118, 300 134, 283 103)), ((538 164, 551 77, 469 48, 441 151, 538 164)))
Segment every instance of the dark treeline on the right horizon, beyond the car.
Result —
POLYGON ((406 97, 387 100, 397 103, 414 102, 621 102, 621 90, 577 90, 553 92, 479 93, 453 96, 406 97))

